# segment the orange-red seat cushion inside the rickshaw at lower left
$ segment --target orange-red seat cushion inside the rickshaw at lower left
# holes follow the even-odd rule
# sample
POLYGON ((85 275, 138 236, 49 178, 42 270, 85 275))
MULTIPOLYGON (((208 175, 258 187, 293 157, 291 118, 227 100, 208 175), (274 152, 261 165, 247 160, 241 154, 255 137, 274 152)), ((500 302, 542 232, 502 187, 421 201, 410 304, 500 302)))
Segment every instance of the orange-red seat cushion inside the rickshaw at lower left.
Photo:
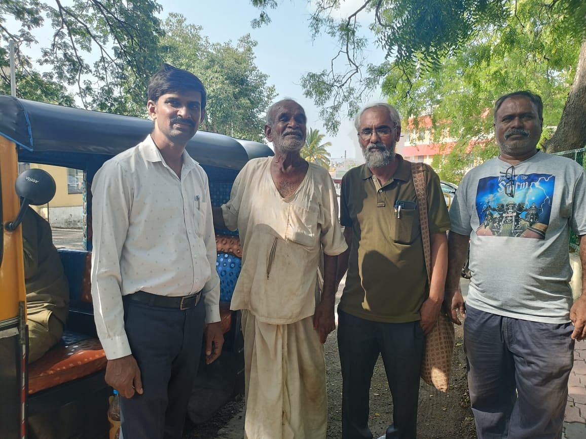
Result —
POLYGON ((50 349, 29 366, 29 395, 105 369, 104 349, 97 338, 50 349))

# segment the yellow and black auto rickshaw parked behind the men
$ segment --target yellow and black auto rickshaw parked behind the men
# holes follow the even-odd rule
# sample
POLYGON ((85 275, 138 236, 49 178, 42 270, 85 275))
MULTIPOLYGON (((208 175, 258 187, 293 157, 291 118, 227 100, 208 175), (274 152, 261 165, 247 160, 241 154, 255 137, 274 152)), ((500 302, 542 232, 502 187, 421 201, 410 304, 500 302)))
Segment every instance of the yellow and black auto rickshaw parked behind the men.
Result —
MULTIPOLYGON (((97 339, 90 294, 91 181, 114 155, 132 148, 152 131, 146 119, 26 101, 0 95, 0 438, 105 438, 108 397, 106 358, 97 339), (19 166, 72 170, 81 193, 79 248, 59 248, 69 280, 70 311, 59 344, 28 364, 26 293, 21 227, 15 219, 19 166)), ((209 177, 212 205, 226 202, 234 178, 248 160, 272 155, 263 143, 198 131, 186 150, 209 177)), ((32 178, 32 180, 36 180, 32 178)), ((59 180, 59 179, 57 179, 59 180)), ((57 181, 59 186, 59 181, 57 181)), ((34 186, 34 185, 33 185, 34 186)), ((45 204, 40 200, 36 204, 45 204)), ((51 212, 52 204, 44 207, 51 212), (48 207, 47 207, 48 206, 48 207)), ((53 215, 55 216, 55 215, 53 215)), ((57 215, 59 216, 59 215, 57 215)), ((51 218, 50 218, 51 219, 51 218)), ((54 226, 53 226, 54 227, 54 226)), ((229 301, 240 270, 237 234, 217 231, 224 348, 212 365, 200 363, 190 400, 194 421, 209 418, 243 387, 240 314, 229 301)))

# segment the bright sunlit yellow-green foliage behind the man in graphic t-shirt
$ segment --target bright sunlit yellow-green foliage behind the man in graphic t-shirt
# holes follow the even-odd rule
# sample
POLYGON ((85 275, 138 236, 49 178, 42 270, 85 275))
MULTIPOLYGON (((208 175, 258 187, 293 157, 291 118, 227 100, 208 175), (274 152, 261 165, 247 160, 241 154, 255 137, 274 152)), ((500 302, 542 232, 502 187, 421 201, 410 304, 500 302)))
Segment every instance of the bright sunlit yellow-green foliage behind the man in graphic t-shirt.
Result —
MULTIPOLYGON (((457 55, 424 75, 389 65, 383 93, 402 115, 432 115, 434 142, 448 130, 458 148, 435 162, 442 178, 458 182, 459 170, 498 154, 492 140, 493 105, 499 95, 532 90, 543 98, 544 135, 560 121, 575 74, 580 41, 556 32, 550 15, 537 16, 534 2, 517 3, 502 31, 485 26, 457 55), (472 143, 481 142, 470 149, 472 143), (482 146, 484 145, 484 146, 482 146), (463 167, 462 167, 463 166, 463 167)), ((417 118, 414 120, 417 124, 417 118)))

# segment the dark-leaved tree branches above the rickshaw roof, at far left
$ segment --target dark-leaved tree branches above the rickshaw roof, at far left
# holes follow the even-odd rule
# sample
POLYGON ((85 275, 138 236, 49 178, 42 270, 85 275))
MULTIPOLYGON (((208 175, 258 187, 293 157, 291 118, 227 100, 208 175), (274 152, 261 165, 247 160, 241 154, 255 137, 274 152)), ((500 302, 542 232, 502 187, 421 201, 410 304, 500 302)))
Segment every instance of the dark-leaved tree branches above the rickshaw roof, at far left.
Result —
MULTIPOLYGON (((70 6, 59 0, 4 0, 0 37, 5 43, 15 40, 19 49, 22 43, 36 42, 31 31, 49 22, 53 36, 36 62, 50 66, 51 74, 39 74, 32 60, 18 50, 21 78, 48 89, 55 84, 74 88, 86 108, 135 114, 139 101, 144 107, 148 78, 161 64, 157 53, 161 28, 155 16, 160 11, 155 0, 73 0, 70 6), (9 29, 8 17, 21 29, 9 29), (90 52, 96 58, 93 64, 87 61, 90 52)), ((5 47, 0 64, 9 64, 5 47)), ((9 81, 6 73, 2 80, 9 81)), ((21 84, 21 97, 45 100, 44 93, 21 84)))

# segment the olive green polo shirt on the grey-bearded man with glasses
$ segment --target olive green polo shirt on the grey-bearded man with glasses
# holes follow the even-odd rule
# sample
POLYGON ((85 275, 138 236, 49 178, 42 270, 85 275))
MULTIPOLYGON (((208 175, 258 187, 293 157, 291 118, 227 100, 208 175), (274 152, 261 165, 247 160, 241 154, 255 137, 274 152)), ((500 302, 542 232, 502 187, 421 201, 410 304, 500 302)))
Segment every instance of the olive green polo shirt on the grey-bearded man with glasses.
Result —
MULTIPOLYGON (((352 227, 346 287, 339 309, 366 320, 407 323, 420 320, 428 296, 427 271, 411 163, 400 155, 384 186, 366 165, 342 179, 340 222, 352 227), (400 210, 398 201, 403 201, 400 210)), ((449 229, 440 179, 424 166, 430 235, 449 229)))

